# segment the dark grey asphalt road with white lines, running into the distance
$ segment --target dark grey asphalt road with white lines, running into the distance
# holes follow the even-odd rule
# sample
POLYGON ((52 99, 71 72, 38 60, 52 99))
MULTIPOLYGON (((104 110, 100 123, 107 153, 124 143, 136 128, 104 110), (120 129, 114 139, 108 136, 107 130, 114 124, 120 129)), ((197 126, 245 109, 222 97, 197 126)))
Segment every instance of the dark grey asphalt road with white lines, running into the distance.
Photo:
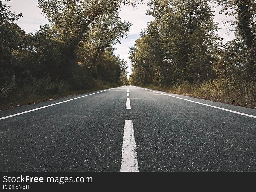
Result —
POLYGON ((0 171, 256 171, 256 110, 134 86, 98 92, 1 111, 0 171))

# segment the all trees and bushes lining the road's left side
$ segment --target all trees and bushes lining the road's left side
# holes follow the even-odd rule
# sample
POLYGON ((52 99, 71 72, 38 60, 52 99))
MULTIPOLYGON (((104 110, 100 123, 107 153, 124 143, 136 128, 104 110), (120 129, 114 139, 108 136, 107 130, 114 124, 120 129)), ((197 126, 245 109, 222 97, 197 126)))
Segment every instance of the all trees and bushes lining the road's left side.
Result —
POLYGON ((15 23, 22 13, 11 12, 5 1, 0 0, 0 110, 128 82, 126 62, 113 46, 131 23, 118 12, 141 1, 38 0, 50 24, 34 33, 15 23))

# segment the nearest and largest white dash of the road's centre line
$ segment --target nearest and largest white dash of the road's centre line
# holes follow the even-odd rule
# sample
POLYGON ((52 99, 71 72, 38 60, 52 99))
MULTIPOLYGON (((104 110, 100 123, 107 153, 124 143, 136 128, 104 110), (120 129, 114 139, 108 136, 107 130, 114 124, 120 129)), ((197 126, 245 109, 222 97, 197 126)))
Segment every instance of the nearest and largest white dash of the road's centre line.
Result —
POLYGON ((122 161, 120 171, 139 171, 132 120, 125 120, 122 161))

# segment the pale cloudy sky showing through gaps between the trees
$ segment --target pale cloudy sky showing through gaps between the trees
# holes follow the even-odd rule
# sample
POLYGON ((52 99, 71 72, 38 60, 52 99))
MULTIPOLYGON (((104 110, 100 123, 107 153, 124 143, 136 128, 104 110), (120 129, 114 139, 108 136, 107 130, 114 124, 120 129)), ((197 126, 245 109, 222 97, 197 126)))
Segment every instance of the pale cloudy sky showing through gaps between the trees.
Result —
MULTIPOLYGON (((142 29, 147 27, 147 23, 153 21, 152 16, 146 15, 148 6, 146 4, 148 0, 144 0, 145 4, 138 5, 137 7, 124 6, 119 12, 122 20, 128 21, 132 24, 129 36, 121 40, 121 44, 115 45, 115 54, 119 54, 121 59, 125 59, 127 71, 131 73, 131 64, 128 59, 129 47, 133 46, 136 39, 139 38, 142 29)), ((40 28, 40 25, 48 24, 49 21, 42 15, 42 11, 37 7, 37 0, 11 0, 4 2, 10 5, 10 10, 15 13, 22 13, 21 17, 16 23, 20 28, 24 29, 26 33, 35 32, 40 28)), ((219 28, 218 35, 224 39, 224 42, 234 39, 234 33, 226 34, 226 26, 223 26, 221 21, 225 20, 225 15, 220 15, 218 12, 220 7, 216 6, 214 13, 214 21, 218 23, 219 28)), ((230 18, 228 18, 230 19, 230 18)), ((128 74, 129 76, 129 74, 128 74)))

